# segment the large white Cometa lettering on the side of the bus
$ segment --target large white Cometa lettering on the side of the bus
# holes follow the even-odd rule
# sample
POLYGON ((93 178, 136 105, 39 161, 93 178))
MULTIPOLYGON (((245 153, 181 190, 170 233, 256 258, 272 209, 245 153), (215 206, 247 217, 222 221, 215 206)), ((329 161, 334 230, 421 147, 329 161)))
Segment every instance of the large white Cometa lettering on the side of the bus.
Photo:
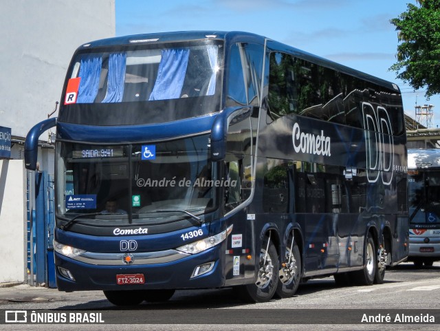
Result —
POLYGON ((294 129, 292 130, 292 140, 294 142, 296 153, 302 152, 307 154, 331 156, 331 140, 330 137, 324 135, 324 130, 321 130, 320 135, 305 134, 301 131, 300 125, 295 123, 294 129))

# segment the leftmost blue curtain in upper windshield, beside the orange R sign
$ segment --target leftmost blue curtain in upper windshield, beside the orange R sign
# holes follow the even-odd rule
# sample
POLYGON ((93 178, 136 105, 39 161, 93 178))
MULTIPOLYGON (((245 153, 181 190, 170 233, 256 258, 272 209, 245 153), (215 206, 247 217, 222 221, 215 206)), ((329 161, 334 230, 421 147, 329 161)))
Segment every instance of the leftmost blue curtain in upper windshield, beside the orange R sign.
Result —
POLYGON ((80 87, 76 103, 93 103, 98 94, 99 78, 101 76, 102 58, 89 55, 81 58, 80 87))

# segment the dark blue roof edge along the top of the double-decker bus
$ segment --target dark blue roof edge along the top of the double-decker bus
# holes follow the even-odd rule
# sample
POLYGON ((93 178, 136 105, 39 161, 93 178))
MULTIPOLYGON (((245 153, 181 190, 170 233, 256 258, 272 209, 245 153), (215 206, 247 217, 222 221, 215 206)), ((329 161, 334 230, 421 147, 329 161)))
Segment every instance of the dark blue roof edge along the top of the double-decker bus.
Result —
POLYGON ((221 39, 224 41, 229 41, 231 43, 241 41, 241 42, 249 42, 249 43, 253 42, 253 43, 261 43, 261 44, 263 44, 265 40, 270 40, 272 45, 275 46, 275 49, 280 52, 287 52, 299 58, 303 58, 306 61, 310 61, 312 63, 322 65, 324 67, 329 67, 338 72, 344 72, 345 74, 349 74, 350 76, 361 78, 364 81, 370 81, 371 83, 381 85, 383 87, 395 91, 396 93, 400 93, 400 89, 396 84, 386 81, 382 78, 371 76, 370 74, 360 72, 359 70, 352 69, 351 67, 341 65, 339 63, 327 60, 326 58, 316 56, 314 54, 305 52, 303 50, 299 50, 298 48, 292 47, 290 45, 286 45, 284 43, 274 41, 273 39, 269 39, 265 36, 253 34, 250 32, 201 30, 201 31, 155 32, 151 34, 132 34, 127 36, 117 36, 108 39, 91 41, 89 43, 85 43, 80 47, 78 47, 78 50, 84 50, 90 47, 109 47, 109 46, 133 45, 133 44, 142 45, 146 43, 156 43, 156 42, 164 43, 171 41, 188 41, 188 40, 202 40, 202 39, 217 39, 217 40, 221 39))

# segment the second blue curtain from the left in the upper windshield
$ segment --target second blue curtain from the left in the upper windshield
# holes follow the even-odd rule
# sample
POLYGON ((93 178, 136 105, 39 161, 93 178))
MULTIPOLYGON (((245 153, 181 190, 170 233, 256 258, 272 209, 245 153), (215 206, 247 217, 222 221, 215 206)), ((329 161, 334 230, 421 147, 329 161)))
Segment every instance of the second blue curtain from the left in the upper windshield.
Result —
POLYGON ((102 103, 120 103, 124 95, 126 53, 110 54, 107 94, 102 103))

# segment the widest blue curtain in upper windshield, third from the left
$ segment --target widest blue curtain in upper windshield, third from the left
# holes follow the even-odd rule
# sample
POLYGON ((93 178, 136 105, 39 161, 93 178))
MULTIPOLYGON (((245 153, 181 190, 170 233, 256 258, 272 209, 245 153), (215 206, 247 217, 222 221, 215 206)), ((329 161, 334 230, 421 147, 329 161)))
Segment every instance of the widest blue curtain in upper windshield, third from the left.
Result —
POLYGON ((190 50, 162 50, 153 91, 148 100, 180 98, 190 50))

